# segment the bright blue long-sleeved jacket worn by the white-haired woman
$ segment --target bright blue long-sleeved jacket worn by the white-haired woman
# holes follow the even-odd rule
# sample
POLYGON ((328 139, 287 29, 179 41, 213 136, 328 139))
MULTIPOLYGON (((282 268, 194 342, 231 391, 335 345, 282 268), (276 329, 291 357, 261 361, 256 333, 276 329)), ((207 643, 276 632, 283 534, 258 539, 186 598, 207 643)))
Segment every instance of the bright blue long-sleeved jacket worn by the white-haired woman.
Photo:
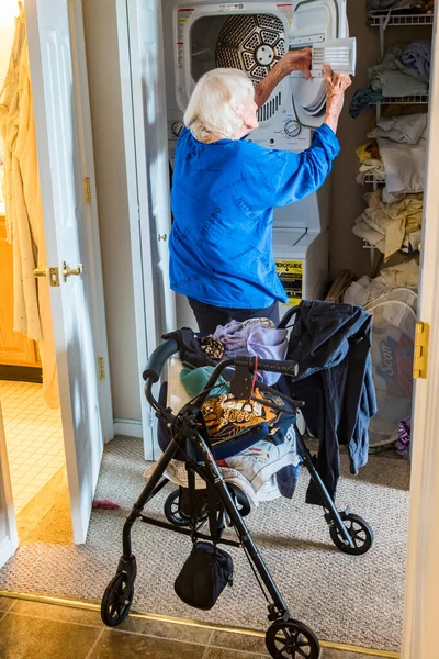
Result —
POLYGON ((245 139, 203 144, 184 129, 172 176, 172 290, 215 306, 286 302, 272 255, 273 209, 317 190, 339 150, 326 124, 301 154, 245 139))

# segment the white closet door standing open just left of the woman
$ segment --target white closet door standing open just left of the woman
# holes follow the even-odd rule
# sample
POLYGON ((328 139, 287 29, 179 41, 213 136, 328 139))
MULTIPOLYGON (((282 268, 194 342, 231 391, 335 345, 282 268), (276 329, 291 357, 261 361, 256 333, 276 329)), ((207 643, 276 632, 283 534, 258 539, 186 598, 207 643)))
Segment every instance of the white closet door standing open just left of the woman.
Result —
POLYGON ((151 460, 158 456, 156 418, 143 393, 142 372, 161 335, 176 328, 168 273, 171 214, 161 3, 120 0, 116 9, 143 436, 145 458, 151 460))

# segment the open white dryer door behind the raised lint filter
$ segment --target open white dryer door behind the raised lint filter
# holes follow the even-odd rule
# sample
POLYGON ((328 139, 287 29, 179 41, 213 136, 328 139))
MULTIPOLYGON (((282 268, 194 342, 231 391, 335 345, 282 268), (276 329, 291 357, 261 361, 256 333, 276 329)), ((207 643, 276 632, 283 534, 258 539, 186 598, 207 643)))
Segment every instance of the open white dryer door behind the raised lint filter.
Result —
MULTIPOLYGON (((347 36, 346 0, 297 0, 294 4, 290 48, 322 48, 325 42, 330 41, 335 51, 338 40, 340 47, 346 46, 344 40, 347 36)), ((322 66, 312 72, 311 80, 306 81, 304 74, 296 71, 290 81, 297 120, 304 126, 319 126, 326 110, 322 66)))

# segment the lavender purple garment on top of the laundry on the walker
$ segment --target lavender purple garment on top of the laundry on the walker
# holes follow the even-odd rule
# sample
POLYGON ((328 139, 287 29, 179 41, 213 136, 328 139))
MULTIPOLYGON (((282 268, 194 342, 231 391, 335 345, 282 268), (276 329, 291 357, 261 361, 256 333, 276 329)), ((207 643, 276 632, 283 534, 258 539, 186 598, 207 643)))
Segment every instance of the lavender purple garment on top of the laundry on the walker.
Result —
MULTIPOLYGON (((224 344, 224 357, 260 357, 260 359, 285 359, 288 330, 274 330, 261 324, 246 324, 232 321, 227 325, 218 325, 213 336, 224 344)), ((258 373, 262 382, 272 386, 280 373, 263 371, 258 373)))

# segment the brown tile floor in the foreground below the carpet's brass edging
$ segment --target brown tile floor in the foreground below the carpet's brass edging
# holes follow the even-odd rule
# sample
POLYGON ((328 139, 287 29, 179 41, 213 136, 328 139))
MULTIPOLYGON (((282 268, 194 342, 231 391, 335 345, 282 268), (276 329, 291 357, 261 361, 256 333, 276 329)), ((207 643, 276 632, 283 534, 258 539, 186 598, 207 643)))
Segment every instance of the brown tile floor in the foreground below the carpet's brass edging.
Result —
MULTIPOLYGON (((1 659, 267 659, 263 638, 0 597, 1 659)), ((381 659, 324 648, 322 659, 381 659)))

